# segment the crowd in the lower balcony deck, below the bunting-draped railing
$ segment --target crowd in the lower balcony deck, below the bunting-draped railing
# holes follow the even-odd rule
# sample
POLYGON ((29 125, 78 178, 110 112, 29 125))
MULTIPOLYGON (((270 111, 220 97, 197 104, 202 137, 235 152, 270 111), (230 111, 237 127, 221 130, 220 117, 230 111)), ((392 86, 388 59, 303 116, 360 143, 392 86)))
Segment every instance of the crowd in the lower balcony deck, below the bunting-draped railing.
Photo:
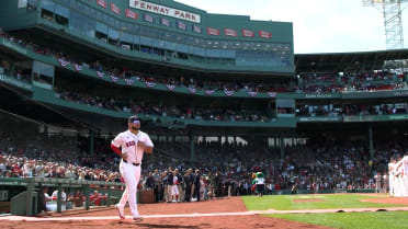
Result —
MULTIPOLYGON (((154 102, 133 103, 118 101, 112 98, 91 96, 89 94, 75 93, 56 89, 56 96, 61 100, 106 108, 112 111, 132 112, 135 114, 154 115, 158 117, 177 117, 204 121, 225 122, 270 122, 271 118, 260 111, 234 110, 234 108, 204 108, 186 105, 158 105, 154 102)), ((297 105, 296 116, 341 116, 341 115, 383 115, 383 114, 408 114, 407 103, 387 103, 377 105, 366 104, 331 104, 331 105, 297 105)))

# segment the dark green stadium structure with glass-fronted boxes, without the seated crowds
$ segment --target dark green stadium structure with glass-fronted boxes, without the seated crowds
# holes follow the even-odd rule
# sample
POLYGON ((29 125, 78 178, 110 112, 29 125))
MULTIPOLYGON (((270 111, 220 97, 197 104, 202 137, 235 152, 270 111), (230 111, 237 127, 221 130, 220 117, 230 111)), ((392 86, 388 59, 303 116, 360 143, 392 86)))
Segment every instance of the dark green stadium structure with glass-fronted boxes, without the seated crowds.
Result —
POLYGON ((243 122, 138 114, 154 135, 188 136, 192 148, 196 136, 239 136, 257 144, 325 131, 338 133, 343 139, 355 133, 372 145, 376 134, 393 129, 404 135, 408 126, 408 114, 296 116, 296 107, 303 104, 406 104, 408 90, 404 89, 347 93, 212 91, 128 81, 80 65, 98 59, 165 78, 189 76, 293 88, 304 83, 298 72, 384 69, 387 61, 408 59, 407 49, 294 55, 292 23, 212 14, 172 0, 2 0, 0 27, 10 35, 0 37, 0 58, 9 69, 0 75, 2 113, 88 131, 90 136, 123 130, 131 111, 61 100, 58 89, 78 89, 94 96, 115 94, 131 101, 156 99, 171 105, 229 108, 239 104, 268 116, 263 122, 243 122), (24 37, 24 42, 15 37, 24 37), (33 44, 49 44, 52 50, 37 51, 33 44), (83 58, 68 61, 55 48, 83 58))

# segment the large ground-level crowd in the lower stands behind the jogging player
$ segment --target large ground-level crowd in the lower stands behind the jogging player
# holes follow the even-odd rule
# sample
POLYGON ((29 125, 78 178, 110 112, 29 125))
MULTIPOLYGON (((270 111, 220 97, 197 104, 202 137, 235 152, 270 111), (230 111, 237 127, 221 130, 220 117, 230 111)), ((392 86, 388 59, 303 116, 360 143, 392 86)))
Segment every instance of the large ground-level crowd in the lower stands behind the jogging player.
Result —
MULTIPOLYGON (((0 142, 0 174, 9 178, 120 182, 120 158, 109 150, 109 139, 95 141, 94 154, 82 151, 82 148, 88 147, 82 146, 86 141, 87 138, 80 139, 78 136, 52 135, 30 139, 24 144, 3 136, 0 142)), ((178 201, 192 199, 194 193, 185 195, 185 188, 196 174, 200 174, 196 181, 200 183, 200 199, 250 194, 252 174, 258 171, 264 173, 267 192, 271 194, 291 190, 295 184, 297 188, 310 192, 314 188, 372 188, 374 175, 387 171, 389 158, 404 154, 408 149, 406 144, 378 142, 374 157, 371 157, 364 145, 326 140, 286 146, 284 158, 281 158, 279 148, 233 142, 220 145, 213 141, 196 144, 195 161, 189 161, 177 152, 182 148, 188 149, 181 142, 157 140, 155 145, 156 152, 146 154, 143 162, 140 188, 151 188, 157 201, 167 202, 174 201, 169 197, 167 187, 170 185, 169 175, 174 175, 175 171, 181 178, 181 194, 184 194, 178 201), (189 174, 194 176, 184 178, 189 174)))

